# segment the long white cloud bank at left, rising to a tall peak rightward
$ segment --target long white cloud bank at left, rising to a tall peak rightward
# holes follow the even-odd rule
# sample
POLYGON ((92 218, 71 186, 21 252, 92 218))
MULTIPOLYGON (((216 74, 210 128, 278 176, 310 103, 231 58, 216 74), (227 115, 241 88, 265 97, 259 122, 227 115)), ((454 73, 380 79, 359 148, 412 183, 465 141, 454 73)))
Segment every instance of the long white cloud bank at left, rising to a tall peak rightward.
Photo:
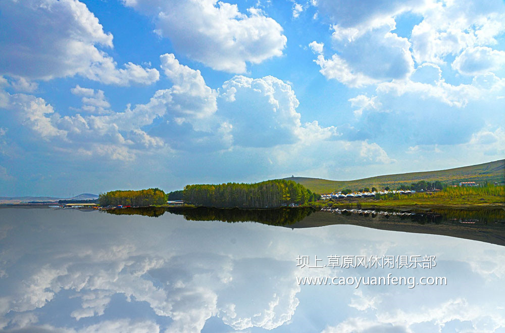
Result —
MULTIPOLYGON (((31 134, 26 135, 27 140, 36 142, 39 141, 37 137, 51 140, 52 150, 84 159, 133 161, 138 154, 149 154, 158 149, 170 152, 164 139, 144 130, 144 126, 153 125, 157 119, 184 131, 186 129, 181 126, 190 124, 188 134, 197 137, 189 137, 189 141, 193 140, 192 144, 197 146, 202 142, 195 131, 201 130, 207 131, 206 135, 213 140, 222 136, 223 140, 230 142, 231 125, 212 117, 217 110, 218 92, 206 85, 199 71, 181 65, 174 55, 166 54, 160 58, 162 69, 174 84, 169 89, 156 91, 146 104, 128 105, 123 112, 113 112, 103 90, 76 85, 71 92, 82 98, 83 106, 73 110, 93 115, 77 113, 62 117, 43 99, 3 92, 6 108, 10 110, 8 115, 16 120, 13 125, 31 130, 31 134), (211 133, 213 130, 216 133, 211 133)), ((158 134, 165 138, 172 136, 175 141, 178 139, 170 130, 158 134)), ((211 144, 207 142, 206 145, 211 144)))

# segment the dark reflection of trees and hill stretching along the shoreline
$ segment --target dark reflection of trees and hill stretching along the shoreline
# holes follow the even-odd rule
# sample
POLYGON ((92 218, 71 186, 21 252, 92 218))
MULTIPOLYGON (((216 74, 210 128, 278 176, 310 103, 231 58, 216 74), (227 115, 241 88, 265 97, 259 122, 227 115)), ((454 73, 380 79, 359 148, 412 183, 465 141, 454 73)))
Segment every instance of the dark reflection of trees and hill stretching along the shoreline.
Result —
POLYGON ((182 215, 188 221, 254 221, 268 225, 305 228, 332 224, 352 224, 375 229, 433 233, 505 246, 505 210, 430 209, 362 210, 313 208, 222 209, 222 208, 123 208, 105 211, 115 215, 158 217, 164 213, 182 215))

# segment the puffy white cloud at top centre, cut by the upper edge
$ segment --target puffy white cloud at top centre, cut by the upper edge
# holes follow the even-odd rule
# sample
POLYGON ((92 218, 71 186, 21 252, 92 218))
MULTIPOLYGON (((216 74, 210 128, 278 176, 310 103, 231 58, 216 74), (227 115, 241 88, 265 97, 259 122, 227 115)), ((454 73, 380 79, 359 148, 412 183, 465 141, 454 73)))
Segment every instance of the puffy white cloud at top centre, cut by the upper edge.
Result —
POLYGON ((156 32, 177 52, 216 70, 243 73, 246 63, 281 56, 286 45, 282 27, 257 8, 244 14, 216 0, 123 2, 152 17, 156 32))

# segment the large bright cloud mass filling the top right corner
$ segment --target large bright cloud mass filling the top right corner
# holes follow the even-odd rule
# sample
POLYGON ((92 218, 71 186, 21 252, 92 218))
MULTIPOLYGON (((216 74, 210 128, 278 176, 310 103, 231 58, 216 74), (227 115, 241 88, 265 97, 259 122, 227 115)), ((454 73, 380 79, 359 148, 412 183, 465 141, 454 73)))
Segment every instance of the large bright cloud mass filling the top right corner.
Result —
POLYGON ((503 68, 505 54, 489 47, 505 31, 505 5, 499 0, 485 6, 476 1, 359 1, 350 5, 322 0, 317 6, 333 23, 336 53, 324 58, 313 50, 320 54, 315 62, 324 76, 348 86, 407 78, 414 70, 413 59, 420 65, 413 80, 423 83, 428 82, 420 78, 420 71, 427 75, 428 68, 423 67, 427 63, 441 66, 451 61, 452 68, 464 75, 503 68), (421 18, 408 39, 393 32, 395 19, 404 13, 421 18))

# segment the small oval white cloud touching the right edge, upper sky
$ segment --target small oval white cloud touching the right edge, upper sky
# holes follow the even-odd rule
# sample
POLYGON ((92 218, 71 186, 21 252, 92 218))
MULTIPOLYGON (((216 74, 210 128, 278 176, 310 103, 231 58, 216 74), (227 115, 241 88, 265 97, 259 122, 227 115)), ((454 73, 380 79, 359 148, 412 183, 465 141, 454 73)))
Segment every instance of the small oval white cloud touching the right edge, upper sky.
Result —
POLYGON ((452 68, 465 75, 493 72, 500 70, 504 65, 504 51, 484 46, 468 47, 452 62, 452 68))

